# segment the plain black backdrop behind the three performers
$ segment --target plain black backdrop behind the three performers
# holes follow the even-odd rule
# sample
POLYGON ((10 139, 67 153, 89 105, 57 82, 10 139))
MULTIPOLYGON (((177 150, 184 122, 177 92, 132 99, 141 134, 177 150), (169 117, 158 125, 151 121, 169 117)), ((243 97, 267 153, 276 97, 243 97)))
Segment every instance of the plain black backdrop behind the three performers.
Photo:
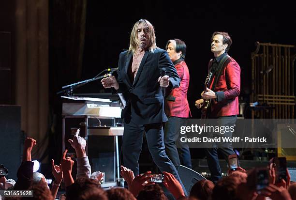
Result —
MULTIPOLYGON (((200 116, 194 102, 203 90, 207 63, 212 57, 210 39, 214 31, 227 31, 232 36, 229 55, 241 67, 241 96, 249 97, 254 43, 296 44, 295 9, 288 1, 223 2, 89 0, 82 77, 93 77, 105 68, 117 67, 119 53, 129 46, 133 24, 146 18, 155 27, 159 47, 164 48, 172 38, 182 39, 187 45, 185 61, 191 76, 188 100, 193 117, 200 116)), ((102 89, 97 82, 83 90, 99 92, 102 89)))

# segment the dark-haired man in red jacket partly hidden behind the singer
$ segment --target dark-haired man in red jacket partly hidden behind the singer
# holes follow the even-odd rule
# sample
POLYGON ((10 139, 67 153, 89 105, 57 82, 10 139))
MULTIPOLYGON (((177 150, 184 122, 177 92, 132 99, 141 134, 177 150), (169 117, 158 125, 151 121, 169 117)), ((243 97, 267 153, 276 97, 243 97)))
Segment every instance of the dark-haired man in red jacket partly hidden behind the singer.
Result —
POLYGON ((165 99, 164 111, 168 122, 164 126, 165 152, 174 165, 192 168, 191 155, 187 144, 180 143, 179 127, 186 124, 190 108, 187 101, 189 70, 185 63, 186 44, 180 39, 169 40, 165 49, 175 65, 181 79, 180 87, 173 89, 165 99), (177 150, 177 146, 180 147, 177 150))

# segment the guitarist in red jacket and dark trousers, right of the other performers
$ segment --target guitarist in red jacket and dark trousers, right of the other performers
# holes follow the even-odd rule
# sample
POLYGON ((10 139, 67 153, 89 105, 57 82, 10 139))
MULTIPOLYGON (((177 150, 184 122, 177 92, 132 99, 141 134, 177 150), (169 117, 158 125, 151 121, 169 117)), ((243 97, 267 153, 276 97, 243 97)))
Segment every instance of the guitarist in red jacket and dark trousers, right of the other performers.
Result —
MULTIPOLYGON (((214 58, 210 60, 208 72, 213 74, 207 92, 202 93, 202 99, 195 102, 197 108, 202 108, 204 99, 211 99, 207 110, 207 118, 217 119, 221 126, 231 126, 237 121, 238 96, 240 93, 240 67, 237 62, 228 56, 227 52, 232 44, 227 32, 214 32, 212 35, 211 51, 214 58), (215 82, 215 84, 214 84, 215 82)), ((218 133, 219 134, 219 133, 218 133)), ((232 137, 232 132, 226 132, 225 137, 232 137)), ((214 144, 213 148, 206 148, 207 163, 211 172, 212 181, 222 178, 218 151, 228 162, 228 155, 235 154, 232 144, 214 144)))

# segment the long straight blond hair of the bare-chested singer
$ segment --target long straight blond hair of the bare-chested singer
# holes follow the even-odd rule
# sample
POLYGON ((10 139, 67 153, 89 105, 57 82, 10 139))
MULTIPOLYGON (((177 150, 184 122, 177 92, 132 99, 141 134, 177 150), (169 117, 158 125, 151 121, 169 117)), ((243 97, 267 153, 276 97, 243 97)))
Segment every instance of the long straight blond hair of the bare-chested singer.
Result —
POLYGON ((138 39, 138 33, 137 29, 139 24, 143 23, 144 27, 147 28, 147 36, 148 36, 148 46, 149 46, 149 51, 153 52, 157 46, 156 46, 156 37, 155 37, 155 32, 154 32, 154 27, 152 24, 147 20, 147 19, 140 19, 133 25, 133 30, 131 32, 131 37, 130 37, 130 47, 129 47, 129 53, 132 52, 133 55, 135 54, 136 50, 139 48, 139 39, 138 39))

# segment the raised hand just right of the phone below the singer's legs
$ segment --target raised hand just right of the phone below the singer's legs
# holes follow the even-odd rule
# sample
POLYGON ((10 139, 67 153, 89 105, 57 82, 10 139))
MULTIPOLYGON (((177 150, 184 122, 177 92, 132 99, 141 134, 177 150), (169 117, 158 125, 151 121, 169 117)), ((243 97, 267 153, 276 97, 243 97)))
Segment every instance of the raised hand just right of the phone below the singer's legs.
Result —
POLYGON ((163 174, 164 174, 163 185, 172 193, 175 199, 185 197, 182 185, 178 182, 175 176, 166 171, 163 171, 163 174))

